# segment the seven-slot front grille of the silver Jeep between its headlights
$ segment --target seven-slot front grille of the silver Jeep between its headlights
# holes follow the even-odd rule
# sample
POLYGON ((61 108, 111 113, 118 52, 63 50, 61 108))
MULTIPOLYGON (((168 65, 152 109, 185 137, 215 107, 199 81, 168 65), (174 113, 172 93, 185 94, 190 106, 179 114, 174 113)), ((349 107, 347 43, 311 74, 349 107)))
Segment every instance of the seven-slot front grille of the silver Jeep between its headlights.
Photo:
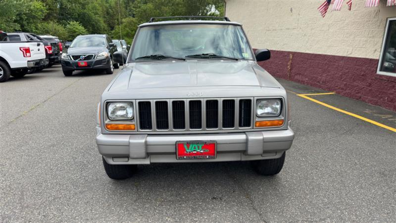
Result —
POLYGON ((138 100, 138 130, 197 131, 252 128, 252 100, 138 100))

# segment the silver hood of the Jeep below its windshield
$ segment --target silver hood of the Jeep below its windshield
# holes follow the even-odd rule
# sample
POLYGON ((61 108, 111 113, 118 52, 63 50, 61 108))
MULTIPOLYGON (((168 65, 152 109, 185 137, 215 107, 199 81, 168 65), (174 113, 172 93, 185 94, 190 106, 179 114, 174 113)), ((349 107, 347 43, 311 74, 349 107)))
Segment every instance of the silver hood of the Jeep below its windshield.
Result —
POLYGON ((210 86, 281 87, 252 61, 164 60, 130 65, 114 80, 109 91, 210 86))

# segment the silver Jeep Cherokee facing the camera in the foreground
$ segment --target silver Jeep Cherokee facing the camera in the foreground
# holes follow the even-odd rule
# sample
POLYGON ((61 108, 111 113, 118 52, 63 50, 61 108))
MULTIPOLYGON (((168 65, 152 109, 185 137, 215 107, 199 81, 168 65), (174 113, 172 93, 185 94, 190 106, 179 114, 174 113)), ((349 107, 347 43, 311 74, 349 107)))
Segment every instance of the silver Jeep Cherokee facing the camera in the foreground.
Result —
POLYGON ((294 132, 285 89, 257 64, 270 52, 253 52, 242 25, 227 17, 154 22, 164 18, 139 26, 128 55, 113 55, 125 67, 97 115, 107 175, 128 178, 151 163, 223 161, 279 173, 294 132))

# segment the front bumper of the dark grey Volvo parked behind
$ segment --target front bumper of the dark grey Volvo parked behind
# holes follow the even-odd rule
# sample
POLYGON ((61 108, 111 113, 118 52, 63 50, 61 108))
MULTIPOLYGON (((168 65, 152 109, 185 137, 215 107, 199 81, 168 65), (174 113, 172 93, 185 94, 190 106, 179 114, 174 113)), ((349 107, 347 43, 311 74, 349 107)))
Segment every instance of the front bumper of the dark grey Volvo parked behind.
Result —
POLYGON ((62 65, 62 70, 89 70, 89 69, 107 69, 110 64, 110 58, 99 58, 99 59, 91 59, 91 60, 83 60, 87 62, 87 66, 78 66, 78 62, 76 60, 71 59, 61 59, 60 63, 62 65))

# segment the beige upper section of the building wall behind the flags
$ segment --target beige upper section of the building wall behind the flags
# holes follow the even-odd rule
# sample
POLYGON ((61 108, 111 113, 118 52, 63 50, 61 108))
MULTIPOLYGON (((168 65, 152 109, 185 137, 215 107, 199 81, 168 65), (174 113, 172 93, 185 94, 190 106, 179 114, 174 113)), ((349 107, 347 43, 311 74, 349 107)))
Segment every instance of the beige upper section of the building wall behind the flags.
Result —
POLYGON ((386 19, 396 6, 364 7, 365 0, 346 1, 341 11, 321 17, 324 0, 226 0, 226 16, 244 25, 253 48, 379 58, 386 19))

